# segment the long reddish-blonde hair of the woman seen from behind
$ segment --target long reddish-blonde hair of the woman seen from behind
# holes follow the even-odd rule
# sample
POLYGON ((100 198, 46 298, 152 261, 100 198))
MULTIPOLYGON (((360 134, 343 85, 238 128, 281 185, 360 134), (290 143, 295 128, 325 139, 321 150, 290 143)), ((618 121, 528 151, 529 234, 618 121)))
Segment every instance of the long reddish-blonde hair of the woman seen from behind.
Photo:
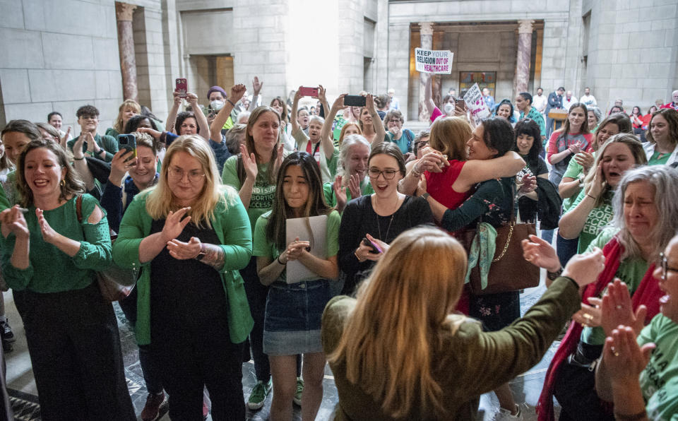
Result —
POLYGON ((432 227, 403 232, 359 287, 328 361, 345 364, 348 381, 391 417, 444 412, 434 359, 465 273, 466 252, 453 237, 432 227))

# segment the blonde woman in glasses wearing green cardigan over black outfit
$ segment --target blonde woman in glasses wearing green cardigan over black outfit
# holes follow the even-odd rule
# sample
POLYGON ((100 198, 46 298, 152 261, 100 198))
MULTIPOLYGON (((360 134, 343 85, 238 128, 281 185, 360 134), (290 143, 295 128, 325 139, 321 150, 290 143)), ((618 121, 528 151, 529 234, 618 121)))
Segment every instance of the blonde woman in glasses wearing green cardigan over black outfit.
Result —
POLYGON ((164 367, 173 420, 202 419, 203 386, 213 419, 244 420, 239 343, 253 321, 238 270, 251 254, 246 210, 220 184, 212 150, 199 136, 177 138, 157 185, 126 209, 113 249, 120 266, 142 268, 136 339, 164 367))

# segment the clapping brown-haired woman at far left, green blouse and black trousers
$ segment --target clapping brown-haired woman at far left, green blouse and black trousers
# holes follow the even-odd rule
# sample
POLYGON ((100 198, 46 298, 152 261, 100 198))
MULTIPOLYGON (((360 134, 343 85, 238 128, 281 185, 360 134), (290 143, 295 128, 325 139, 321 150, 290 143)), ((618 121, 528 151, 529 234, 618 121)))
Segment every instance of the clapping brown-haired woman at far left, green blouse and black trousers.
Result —
POLYGON ((28 143, 16 174, 23 208, 0 213, 2 272, 25 326, 42 417, 135 420, 117 320, 94 282, 112 261, 105 213, 57 143, 28 143))

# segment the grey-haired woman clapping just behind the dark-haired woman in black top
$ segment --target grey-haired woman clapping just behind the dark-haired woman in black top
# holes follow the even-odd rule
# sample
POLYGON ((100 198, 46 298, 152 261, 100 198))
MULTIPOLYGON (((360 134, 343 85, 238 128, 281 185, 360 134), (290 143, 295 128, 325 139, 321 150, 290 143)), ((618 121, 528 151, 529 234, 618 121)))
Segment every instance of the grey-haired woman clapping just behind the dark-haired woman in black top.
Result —
POLYGON ((323 184, 323 194, 328 205, 336 206, 341 213, 351 199, 373 194, 367 177, 369 143, 359 135, 346 136, 339 151, 338 167, 343 170, 333 183, 323 184))

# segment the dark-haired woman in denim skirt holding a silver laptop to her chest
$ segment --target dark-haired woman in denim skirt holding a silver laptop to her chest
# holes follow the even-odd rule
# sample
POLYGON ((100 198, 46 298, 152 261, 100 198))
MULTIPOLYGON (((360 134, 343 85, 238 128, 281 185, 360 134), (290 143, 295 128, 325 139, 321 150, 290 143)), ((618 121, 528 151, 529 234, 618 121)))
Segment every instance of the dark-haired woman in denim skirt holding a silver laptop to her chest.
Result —
POLYGON ((259 280, 270 285, 266 300, 263 352, 273 376, 271 420, 292 419, 297 387, 297 355, 304 355, 302 420, 315 420, 323 398, 325 354, 320 341, 320 320, 331 298, 330 283, 338 275, 337 252, 340 216, 325 203, 320 171, 305 152, 287 156, 278 172, 273 210, 261 215, 254 230, 254 256, 259 280), (286 220, 327 215, 326 256, 311 254, 304 236, 286 240, 286 220), (314 280, 288 283, 285 268, 299 261, 316 275, 314 280))

